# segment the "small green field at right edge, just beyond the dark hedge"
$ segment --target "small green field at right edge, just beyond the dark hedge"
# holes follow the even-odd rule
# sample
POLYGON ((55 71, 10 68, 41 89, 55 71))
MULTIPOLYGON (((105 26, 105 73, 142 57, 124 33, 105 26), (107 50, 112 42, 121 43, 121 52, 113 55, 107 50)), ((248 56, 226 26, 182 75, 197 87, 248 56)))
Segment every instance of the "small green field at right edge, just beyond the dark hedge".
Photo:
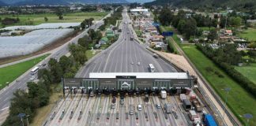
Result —
POLYGON ((243 76, 247 76, 247 78, 256 83, 256 63, 244 66, 236 66, 235 69, 243 74, 243 76))

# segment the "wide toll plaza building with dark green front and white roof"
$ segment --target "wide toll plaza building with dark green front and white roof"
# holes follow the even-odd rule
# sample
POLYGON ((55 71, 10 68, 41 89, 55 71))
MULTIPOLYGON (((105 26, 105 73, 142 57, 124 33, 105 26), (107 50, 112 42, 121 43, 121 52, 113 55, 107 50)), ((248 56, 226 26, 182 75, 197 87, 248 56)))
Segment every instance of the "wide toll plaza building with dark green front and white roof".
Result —
POLYGON ((63 90, 81 88, 96 92, 159 92, 194 86, 188 72, 91 72, 89 78, 64 78, 63 90))

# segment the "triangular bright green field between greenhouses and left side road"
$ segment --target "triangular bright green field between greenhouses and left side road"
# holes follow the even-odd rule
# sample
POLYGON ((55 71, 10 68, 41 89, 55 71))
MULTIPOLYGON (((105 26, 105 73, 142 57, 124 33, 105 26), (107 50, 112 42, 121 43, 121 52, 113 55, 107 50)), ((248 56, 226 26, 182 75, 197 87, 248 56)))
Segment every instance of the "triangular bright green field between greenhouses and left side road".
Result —
POLYGON ((36 57, 29 61, 18 63, 16 65, 9 65, 7 67, 0 68, 0 89, 6 87, 6 82, 13 82, 13 80, 16 80, 17 77, 21 76, 24 72, 28 71, 28 69, 31 69, 34 65, 38 64, 48 55, 49 54, 46 54, 41 57, 36 57))

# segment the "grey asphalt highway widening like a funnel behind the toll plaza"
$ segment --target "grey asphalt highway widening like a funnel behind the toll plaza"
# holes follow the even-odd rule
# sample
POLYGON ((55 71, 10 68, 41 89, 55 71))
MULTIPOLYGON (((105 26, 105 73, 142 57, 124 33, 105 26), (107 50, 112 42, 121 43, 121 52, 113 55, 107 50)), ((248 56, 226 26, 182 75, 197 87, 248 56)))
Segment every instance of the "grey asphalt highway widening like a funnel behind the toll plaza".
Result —
POLYGON ((149 72, 149 64, 154 65, 156 72, 177 72, 161 58, 152 57, 152 53, 143 44, 130 40, 133 36, 130 19, 126 11, 122 13, 122 32, 119 39, 100 52, 77 72, 76 77, 89 77, 90 72, 149 72))

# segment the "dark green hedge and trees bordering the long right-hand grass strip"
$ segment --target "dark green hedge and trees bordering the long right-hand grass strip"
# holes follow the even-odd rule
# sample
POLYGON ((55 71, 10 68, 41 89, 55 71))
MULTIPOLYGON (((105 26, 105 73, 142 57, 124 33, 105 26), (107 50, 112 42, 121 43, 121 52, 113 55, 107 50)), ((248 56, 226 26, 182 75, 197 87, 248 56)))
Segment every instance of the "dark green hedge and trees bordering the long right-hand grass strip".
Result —
MULTIPOLYGON (((256 97, 256 84, 251 82, 246 76, 236 71, 234 65, 242 62, 243 52, 236 50, 235 44, 224 44, 219 49, 214 50, 208 44, 196 44, 198 50, 201 50, 206 57, 209 57, 213 62, 228 73, 241 87, 250 92, 256 97)), ((256 53, 255 53, 256 54, 256 53)), ((254 56, 255 57, 255 56, 254 56)))

